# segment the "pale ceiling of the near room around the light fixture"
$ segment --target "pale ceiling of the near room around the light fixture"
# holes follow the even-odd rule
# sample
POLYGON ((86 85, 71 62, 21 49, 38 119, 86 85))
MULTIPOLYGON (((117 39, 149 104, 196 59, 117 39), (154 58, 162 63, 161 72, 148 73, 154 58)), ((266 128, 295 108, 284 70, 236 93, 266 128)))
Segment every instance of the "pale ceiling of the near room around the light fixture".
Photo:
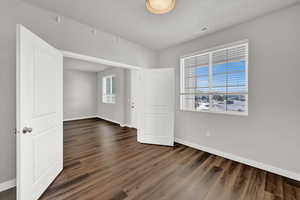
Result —
POLYGON ((152 49, 242 23, 300 0, 177 0, 175 10, 153 15, 145 0, 23 0, 152 49), (208 30, 201 32, 203 27, 208 30))

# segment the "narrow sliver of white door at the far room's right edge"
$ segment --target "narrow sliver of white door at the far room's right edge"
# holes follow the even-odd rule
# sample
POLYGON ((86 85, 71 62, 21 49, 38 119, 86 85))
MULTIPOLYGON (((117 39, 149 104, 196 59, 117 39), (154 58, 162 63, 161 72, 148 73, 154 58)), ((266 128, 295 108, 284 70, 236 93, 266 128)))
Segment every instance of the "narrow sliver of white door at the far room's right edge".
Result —
POLYGON ((130 97, 130 109, 131 109, 131 126, 133 128, 138 127, 138 115, 137 115, 137 104, 138 104, 138 87, 139 87, 139 79, 138 79, 138 71, 131 70, 131 97, 130 97))

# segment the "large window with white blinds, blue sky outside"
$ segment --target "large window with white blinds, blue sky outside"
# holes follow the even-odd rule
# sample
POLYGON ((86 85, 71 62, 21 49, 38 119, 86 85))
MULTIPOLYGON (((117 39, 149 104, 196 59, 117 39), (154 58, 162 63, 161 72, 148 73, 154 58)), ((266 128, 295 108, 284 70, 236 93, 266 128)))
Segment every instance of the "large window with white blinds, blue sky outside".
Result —
POLYGON ((181 58, 181 110, 248 114, 248 43, 181 58))

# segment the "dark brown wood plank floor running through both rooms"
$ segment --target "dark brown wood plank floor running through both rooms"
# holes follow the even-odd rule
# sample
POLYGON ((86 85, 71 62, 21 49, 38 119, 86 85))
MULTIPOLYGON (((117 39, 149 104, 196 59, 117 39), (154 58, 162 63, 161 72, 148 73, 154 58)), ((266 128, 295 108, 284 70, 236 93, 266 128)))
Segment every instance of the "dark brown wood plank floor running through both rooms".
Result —
POLYGON ((42 200, 300 200, 300 183, 99 119, 64 124, 64 170, 42 200))

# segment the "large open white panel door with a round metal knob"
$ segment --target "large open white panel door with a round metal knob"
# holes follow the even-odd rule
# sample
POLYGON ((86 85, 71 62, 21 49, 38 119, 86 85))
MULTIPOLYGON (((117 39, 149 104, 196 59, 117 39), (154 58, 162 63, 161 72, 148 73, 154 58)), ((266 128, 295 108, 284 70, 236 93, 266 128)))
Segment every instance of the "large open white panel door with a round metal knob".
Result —
POLYGON ((63 56, 17 26, 17 199, 36 200, 63 169, 63 56))

